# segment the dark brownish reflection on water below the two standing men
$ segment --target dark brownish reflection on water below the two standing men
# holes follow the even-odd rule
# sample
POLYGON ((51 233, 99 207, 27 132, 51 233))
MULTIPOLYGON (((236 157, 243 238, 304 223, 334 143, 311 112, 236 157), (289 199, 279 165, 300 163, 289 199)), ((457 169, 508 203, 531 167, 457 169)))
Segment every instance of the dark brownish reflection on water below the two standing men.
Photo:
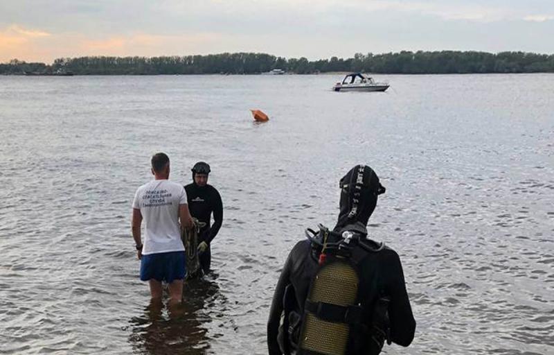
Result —
POLYGON ((211 322, 211 315, 205 307, 214 300, 224 300, 216 277, 211 274, 186 282, 181 304, 169 305, 165 299, 151 301, 143 315, 132 318, 129 342, 134 351, 152 355, 206 354, 210 343, 205 324, 211 322))

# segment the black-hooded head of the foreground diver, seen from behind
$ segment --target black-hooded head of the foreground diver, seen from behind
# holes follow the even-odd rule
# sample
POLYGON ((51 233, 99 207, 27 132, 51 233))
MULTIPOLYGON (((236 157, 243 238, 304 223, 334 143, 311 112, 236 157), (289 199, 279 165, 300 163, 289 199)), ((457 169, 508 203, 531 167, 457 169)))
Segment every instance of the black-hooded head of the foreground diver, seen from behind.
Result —
POLYGON ((355 223, 362 223, 365 227, 377 205, 377 196, 385 192, 377 174, 369 166, 354 166, 343 176, 339 187, 340 212, 335 230, 355 223))

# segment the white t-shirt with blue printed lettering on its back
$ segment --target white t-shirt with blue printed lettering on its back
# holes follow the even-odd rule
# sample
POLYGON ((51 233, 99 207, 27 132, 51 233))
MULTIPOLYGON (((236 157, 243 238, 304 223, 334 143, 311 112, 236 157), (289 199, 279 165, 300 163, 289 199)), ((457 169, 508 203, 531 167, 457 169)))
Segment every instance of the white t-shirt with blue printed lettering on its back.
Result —
POLYGON ((143 254, 185 250, 179 229, 179 205, 186 205, 184 187, 168 180, 152 180, 136 190, 133 208, 145 222, 143 254))

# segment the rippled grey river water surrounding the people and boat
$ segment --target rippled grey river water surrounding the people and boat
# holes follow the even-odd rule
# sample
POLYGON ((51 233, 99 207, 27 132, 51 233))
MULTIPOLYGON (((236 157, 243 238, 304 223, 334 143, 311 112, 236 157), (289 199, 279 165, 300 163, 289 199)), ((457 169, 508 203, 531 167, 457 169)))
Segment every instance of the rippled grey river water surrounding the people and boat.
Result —
POLYGON ((266 353, 290 248, 366 163, 418 322, 384 353, 554 354, 554 75, 339 79, 0 77, 0 353, 266 353), (130 236, 157 151, 182 184, 209 162, 224 200, 214 272, 177 311, 149 305, 130 236))

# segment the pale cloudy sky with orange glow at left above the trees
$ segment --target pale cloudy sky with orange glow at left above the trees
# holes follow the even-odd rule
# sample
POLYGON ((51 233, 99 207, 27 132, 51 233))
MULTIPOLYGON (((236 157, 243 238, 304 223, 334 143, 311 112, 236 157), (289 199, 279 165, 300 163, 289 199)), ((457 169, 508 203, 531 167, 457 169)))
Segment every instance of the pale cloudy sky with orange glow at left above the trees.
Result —
POLYGON ((0 62, 260 52, 554 53, 554 0, 0 0, 0 62))

